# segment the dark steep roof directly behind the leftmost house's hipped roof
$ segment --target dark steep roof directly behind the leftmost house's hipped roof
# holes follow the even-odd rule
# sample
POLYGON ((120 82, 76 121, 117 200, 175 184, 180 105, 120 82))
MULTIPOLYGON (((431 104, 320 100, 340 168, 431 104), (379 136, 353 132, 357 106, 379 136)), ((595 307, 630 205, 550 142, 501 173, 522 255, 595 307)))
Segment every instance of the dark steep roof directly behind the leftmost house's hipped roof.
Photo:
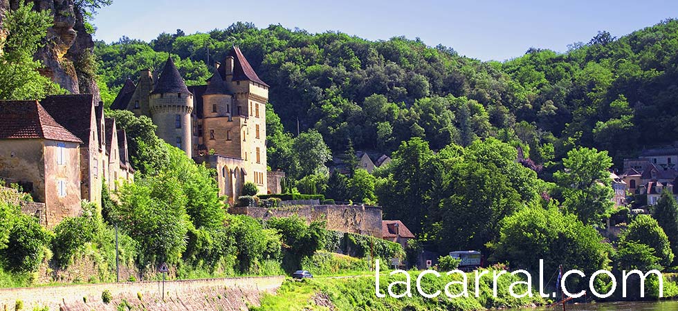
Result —
MULTIPOLYGON (((68 131, 90 143, 94 97, 91 94, 50 95, 40 102, 44 109, 68 131)), ((96 120, 96 118, 95 118, 96 120)))

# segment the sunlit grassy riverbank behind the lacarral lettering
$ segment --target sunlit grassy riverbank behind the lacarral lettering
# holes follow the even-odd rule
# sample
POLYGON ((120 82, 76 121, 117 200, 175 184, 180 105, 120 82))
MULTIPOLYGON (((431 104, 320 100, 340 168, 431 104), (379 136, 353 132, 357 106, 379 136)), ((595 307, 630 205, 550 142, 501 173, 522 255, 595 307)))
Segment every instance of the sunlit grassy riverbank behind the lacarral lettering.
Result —
MULTIPOLYGON (((436 298, 426 298, 421 296, 416 290, 416 276, 419 272, 412 271, 411 293, 412 296, 405 296, 401 299, 395 299, 387 294, 384 298, 375 295, 374 276, 345 278, 345 279, 304 279, 303 281, 286 281, 277 294, 265 294, 261 300, 261 307, 251 307, 250 310, 329 310, 327 306, 318 306, 313 303, 312 297, 315 294, 324 294, 335 305, 336 310, 484 310, 486 308, 511 308, 532 303, 544 303, 538 294, 534 292, 533 298, 526 296, 522 299, 516 299, 508 294, 508 287, 511 283, 519 281, 517 276, 505 274, 501 276, 498 282, 500 289, 497 297, 492 294, 492 277, 484 276, 480 283, 480 295, 475 297, 475 283, 473 273, 468 274, 468 297, 450 299, 444 292, 436 298)), ((491 272, 492 273, 492 272, 491 272)), ((386 292, 387 286, 394 281, 404 281, 405 276, 388 276, 381 274, 380 288, 381 292, 386 292)), ((443 274, 440 278, 432 275, 424 276, 422 288, 425 292, 435 292, 444 290, 450 281, 460 281, 461 276, 455 274, 446 276, 443 274)), ((520 280, 522 281, 522 280, 520 280)), ((517 285, 515 292, 524 292, 524 285, 517 285), (521 286, 523 286, 521 288, 521 286)), ((533 288, 535 291, 536 288, 533 288)), ((395 285, 396 294, 405 292, 404 285, 395 285)), ((461 292, 461 285, 450 286, 452 294, 461 292)))

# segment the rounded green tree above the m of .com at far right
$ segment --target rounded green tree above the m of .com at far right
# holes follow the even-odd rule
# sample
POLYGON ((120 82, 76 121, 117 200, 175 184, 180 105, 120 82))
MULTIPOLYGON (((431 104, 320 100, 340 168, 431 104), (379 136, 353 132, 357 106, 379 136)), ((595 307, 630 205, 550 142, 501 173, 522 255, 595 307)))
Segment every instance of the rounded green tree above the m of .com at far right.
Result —
MULTIPOLYGON (((652 249, 652 255, 659 258, 657 262, 663 267, 668 267, 673 262, 674 254, 666 233, 659 227, 657 220, 649 215, 639 215, 629 224, 619 236, 619 245, 636 243, 647 245, 652 249)), ((625 247, 629 245, 624 245, 625 247)), ((627 263, 631 265, 632 263, 627 263)))

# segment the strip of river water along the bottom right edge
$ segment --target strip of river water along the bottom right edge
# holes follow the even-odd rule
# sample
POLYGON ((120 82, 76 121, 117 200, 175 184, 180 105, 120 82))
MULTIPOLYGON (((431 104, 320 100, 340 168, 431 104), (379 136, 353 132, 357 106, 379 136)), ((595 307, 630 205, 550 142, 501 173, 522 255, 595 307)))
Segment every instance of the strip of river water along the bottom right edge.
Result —
MULTIPOLYGON (((678 311, 678 301, 657 301, 657 302, 614 302, 614 303, 579 303, 576 305, 566 305, 567 311, 678 311)), ((562 305, 558 308, 523 308, 508 309, 508 311, 560 311, 562 305)))

